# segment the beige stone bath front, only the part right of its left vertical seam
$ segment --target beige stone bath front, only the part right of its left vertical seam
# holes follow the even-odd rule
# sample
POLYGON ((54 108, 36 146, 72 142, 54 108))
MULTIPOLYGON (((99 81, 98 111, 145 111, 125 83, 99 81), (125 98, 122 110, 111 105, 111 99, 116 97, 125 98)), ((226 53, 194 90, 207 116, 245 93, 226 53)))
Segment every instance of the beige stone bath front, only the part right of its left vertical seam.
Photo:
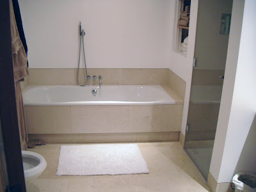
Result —
POLYGON ((182 105, 71 106, 72 133, 180 131, 182 105))

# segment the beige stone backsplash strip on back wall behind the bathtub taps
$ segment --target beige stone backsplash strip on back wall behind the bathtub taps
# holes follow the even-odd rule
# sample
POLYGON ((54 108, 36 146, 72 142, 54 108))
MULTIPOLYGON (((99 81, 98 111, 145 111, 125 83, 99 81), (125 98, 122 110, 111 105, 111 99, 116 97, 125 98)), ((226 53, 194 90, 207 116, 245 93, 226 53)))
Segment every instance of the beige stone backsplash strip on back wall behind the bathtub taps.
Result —
MULTIPOLYGON (((165 68, 88 68, 88 75, 102 76, 102 84, 168 84, 168 69, 165 68)), ((77 69, 30 68, 26 81, 29 85, 74 85, 77 84, 77 69)), ((93 80, 88 84, 93 84, 93 80)))

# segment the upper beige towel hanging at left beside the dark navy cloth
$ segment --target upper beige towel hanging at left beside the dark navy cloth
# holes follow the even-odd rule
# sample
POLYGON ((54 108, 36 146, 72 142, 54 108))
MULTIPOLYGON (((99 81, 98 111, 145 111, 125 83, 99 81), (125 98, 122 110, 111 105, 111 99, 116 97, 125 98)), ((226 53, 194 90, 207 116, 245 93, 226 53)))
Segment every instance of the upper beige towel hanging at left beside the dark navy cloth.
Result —
POLYGON ((15 15, 13 11, 12 0, 10 2, 10 20, 11 20, 11 37, 12 37, 12 59, 13 72, 15 81, 19 81, 28 75, 27 55, 20 40, 15 15))

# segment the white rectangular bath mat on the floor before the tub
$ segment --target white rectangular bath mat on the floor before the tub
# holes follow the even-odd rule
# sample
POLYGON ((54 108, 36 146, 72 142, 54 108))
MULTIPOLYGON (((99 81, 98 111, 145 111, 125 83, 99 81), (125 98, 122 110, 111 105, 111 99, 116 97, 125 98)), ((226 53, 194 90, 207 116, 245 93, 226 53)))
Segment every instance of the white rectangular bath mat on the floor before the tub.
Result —
POLYGON ((148 173, 136 144, 62 145, 56 175, 148 173))

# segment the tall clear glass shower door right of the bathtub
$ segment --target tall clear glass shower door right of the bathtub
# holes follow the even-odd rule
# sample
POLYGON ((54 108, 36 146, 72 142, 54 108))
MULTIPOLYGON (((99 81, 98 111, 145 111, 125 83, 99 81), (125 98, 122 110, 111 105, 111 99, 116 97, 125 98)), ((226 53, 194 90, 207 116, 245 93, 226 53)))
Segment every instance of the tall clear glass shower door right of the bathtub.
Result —
POLYGON ((232 0, 199 0, 195 58, 184 148, 207 180, 220 109, 232 0), (229 22, 229 23, 228 23, 229 22))

